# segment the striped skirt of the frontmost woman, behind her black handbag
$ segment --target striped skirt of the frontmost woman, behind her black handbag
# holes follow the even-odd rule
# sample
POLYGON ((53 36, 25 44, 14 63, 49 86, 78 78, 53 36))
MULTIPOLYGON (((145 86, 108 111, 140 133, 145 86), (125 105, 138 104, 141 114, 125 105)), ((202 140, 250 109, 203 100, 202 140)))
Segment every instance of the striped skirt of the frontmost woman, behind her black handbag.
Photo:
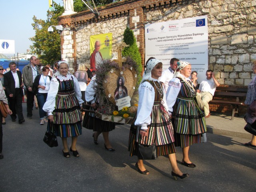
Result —
POLYGON ((154 105, 151 112, 151 123, 148 126, 147 137, 141 138, 140 126, 135 126, 134 121, 130 128, 128 150, 130 156, 137 155, 138 142, 143 145, 156 143, 157 156, 175 153, 173 128, 168 113, 161 104, 154 105))

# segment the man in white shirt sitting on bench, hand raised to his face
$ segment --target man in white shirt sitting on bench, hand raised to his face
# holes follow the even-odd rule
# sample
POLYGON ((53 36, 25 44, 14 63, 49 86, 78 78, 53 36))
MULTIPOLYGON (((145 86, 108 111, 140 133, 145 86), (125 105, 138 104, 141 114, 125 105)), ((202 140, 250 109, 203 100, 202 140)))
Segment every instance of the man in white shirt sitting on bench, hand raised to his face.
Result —
POLYGON ((205 103, 204 106, 204 116, 205 118, 210 117, 210 110, 209 110, 209 102, 212 100, 216 87, 220 86, 220 83, 214 77, 214 72, 212 70, 206 71, 206 80, 203 80, 200 83, 200 86, 197 90, 200 93, 202 101, 205 103))

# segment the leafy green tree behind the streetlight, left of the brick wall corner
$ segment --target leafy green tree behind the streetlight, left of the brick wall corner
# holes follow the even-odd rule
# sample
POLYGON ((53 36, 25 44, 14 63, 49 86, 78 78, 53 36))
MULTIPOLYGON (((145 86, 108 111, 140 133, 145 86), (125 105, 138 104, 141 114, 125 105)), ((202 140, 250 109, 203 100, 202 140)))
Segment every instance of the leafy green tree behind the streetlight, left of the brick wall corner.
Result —
POLYGON ((60 60, 60 34, 58 30, 49 33, 48 27, 58 25, 58 16, 64 12, 63 6, 60 6, 54 2, 52 10, 47 11, 47 19, 37 19, 33 17, 34 23, 32 23, 35 30, 35 36, 30 40, 33 45, 30 48, 40 58, 42 64, 52 64, 56 60, 60 60))

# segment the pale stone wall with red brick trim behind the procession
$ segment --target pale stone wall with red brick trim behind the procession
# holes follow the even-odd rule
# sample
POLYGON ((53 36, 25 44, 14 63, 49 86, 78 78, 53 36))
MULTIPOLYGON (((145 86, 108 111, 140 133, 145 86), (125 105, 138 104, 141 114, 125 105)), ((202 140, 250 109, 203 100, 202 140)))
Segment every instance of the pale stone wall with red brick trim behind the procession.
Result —
MULTIPOLYGON (((246 86, 256 60, 256 0, 123 0, 89 11, 60 16, 62 59, 72 70, 90 57, 90 35, 113 33, 113 46, 122 40, 126 26, 136 36, 144 65, 144 26, 196 16, 208 16, 208 68, 220 84, 246 86)), ((147 59, 147 58, 146 58, 147 59)))

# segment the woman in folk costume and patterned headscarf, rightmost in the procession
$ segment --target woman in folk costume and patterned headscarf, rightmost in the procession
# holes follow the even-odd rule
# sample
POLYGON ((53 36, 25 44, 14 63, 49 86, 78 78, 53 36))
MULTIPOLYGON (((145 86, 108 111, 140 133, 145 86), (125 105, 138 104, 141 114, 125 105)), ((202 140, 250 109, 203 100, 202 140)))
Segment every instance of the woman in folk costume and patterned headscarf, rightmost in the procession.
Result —
POLYGON ((168 113, 174 117, 175 146, 183 151, 182 164, 196 167, 188 158, 190 145, 201 142, 201 136, 206 132, 204 113, 198 107, 195 87, 188 78, 191 74, 191 64, 179 61, 174 78, 170 80, 166 92, 168 113))

